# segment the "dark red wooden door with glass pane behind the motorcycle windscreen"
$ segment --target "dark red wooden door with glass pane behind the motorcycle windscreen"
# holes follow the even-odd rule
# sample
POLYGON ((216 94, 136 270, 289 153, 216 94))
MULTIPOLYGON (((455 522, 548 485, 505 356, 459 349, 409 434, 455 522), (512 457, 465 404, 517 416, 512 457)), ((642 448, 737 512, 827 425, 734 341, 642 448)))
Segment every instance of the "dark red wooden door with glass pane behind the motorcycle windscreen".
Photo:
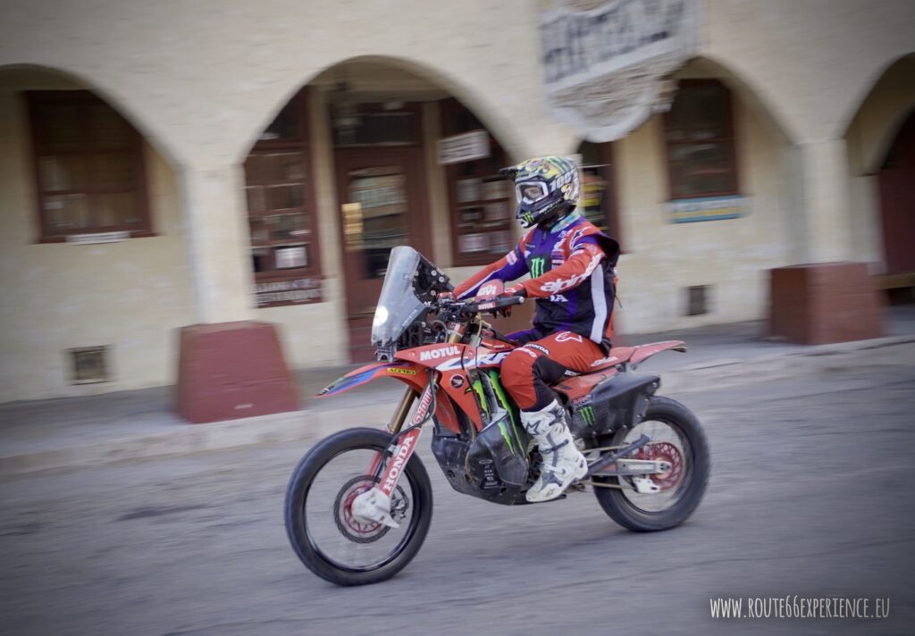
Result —
POLYGON ((423 151, 419 146, 336 152, 350 361, 371 361, 371 318, 391 248, 429 253, 423 151))

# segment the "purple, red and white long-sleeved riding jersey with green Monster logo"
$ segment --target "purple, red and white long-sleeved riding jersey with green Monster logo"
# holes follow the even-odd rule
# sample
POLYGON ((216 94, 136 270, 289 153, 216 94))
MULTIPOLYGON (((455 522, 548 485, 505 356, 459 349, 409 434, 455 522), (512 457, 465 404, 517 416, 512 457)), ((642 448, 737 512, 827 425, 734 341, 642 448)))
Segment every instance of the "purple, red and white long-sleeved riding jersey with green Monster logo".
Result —
POLYGON ((534 227, 500 260, 455 289, 473 296, 487 281, 512 281, 530 273, 523 287, 537 299, 533 327, 542 335, 571 331, 609 346, 619 243, 573 212, 549 230, 534 227))

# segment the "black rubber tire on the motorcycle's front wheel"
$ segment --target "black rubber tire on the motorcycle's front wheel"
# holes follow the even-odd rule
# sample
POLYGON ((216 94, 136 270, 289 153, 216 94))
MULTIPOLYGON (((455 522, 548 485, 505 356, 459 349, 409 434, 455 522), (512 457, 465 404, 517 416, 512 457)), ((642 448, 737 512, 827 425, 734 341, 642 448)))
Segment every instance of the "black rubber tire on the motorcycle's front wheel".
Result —
MULTIPOLYGON (((365 447, 386 448, 391 442, 391 435, 375 428, 350 428, 340 431, 325 438, 312 447, 304 458, 299 461, 285 495, 285 527, 289 536, 289 543, 296 551, 299 559, 314 572, 331 583, 339 586, 358 586, 379 583, 393 577, 404 569, 413 560, 419 548, 422 547, 425 535, 429 531, 432 521, 432 484, 425 466, 420 458, 414 455, 406 464, 403 480, 406 477, 414 484, 413 505, 418 509, 418 523, 414 534, 407 544, 404 544, 399 555, 389 563, 365 572, 350 572, 341 569, 329 562, 308 541, 306 533, 305 496, 312 480, 318 475, 320 469, 328 461, 341 452, 365 447)), ((404 482, 401 481, 403 484, 404 482)))

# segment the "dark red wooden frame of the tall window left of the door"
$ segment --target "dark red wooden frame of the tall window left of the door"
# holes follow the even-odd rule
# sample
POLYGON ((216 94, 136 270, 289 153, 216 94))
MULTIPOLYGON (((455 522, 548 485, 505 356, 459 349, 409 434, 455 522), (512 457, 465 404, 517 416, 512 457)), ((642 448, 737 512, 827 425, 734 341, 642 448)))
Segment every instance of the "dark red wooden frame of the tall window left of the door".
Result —
MULTIPOLYGON (((314 173, 314 160, 311 156, 312 146, 311 146, 311 135, 310 135, 310 117, 309 117, 309 99, 307 95, 307 90, 303 89, 300 92, 297 92, 291 99, 290 102, 293 104, 293 108, 296 111, 296 136, 288 138, 279 138, 279 139, 260 139, 254 142, 254 145, 248 151, 248 154, 245 156, 244 162, 242 163, 242 170, 244 174, 244 205, 245 205, 245 218, 248 222, 248 243, 250 245, 250 255, 251 261, 250 266, 253 269, 253 254, 254 250, 267 248, 270 250, 270 259, 272 263, 272 269, 265 272, 256 272, 253 271, 254 276, 254 285, 260 285, 265 283, 284 283, 287 281, 293 281, 300 278, 312 278, 319 281, 324 280, 324 275, 322 274, 321 267, 321 245, 320 245, 320 233, 319 233, 319 219, 318 219, 318 198, 316 194, 316 181, 314 173), (302 205, 296 210, 299 210, 299 213, 307 215, 310 229, 310 234, 304 240, 290 240, 290 241, 276 241, 268 240, 266 242, 255 243, 253 240, 253 235, 251 232, 251 221, 267 216, 265 212, 252 212, 248 207, 248 193, 247 189, 249 186, 264 186, 268 185, 266 182, 254 181, 253 183, 249 181, 247 170, 244 169, 244 164, 247 163, 248 157, 254 155, 271 155, 282 152, 295 151, 302 160, 302 173, 304 175, 303 182, 305 183, 306 193, 303 199, 302 205), (274 249, 278 246, 282 246, 282 243, 305 243, 307 245, 307 258, 308 264, 304 267, 291 267, 276 269, 275 266, 275 253, 274 249)), ((284 106, 285 108, 285 106, 284 106)), ((279 113, 277 113, 279 114, 279 113)), ((263 133, 270 127, 270 125, 264 128, 263 133)), ((268 181, 270 179, 267 179, 268 181)), ((323 284, 322 284, 323 286, 323 284)), ((264 309, 267 307, 286 307, 290 305, 307 305, 314 304, 324 301, 323 292, 318 295, 317 298, 307 300, 307 301, 296 301, 296 300, 279 300, 275 302, 264 303, 262 305, 257 304, 257 293, 254 293, 254 307, 258 309, 264 309)))

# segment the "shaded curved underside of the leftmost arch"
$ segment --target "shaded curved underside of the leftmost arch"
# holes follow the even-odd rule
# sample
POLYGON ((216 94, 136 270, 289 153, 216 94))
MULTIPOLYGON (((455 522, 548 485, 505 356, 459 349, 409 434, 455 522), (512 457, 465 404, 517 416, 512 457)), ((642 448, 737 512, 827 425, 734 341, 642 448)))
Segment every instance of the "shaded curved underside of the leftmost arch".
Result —
POLYGON ((140 117, 135 109, 130 107, 129 100, 112 86, 107 86, 101 81, 94 81, 77 71, 26 63, 0 66, 0 86, 6 83, 16 83, 22 87, 21 90, 60 87, 67 90, 91 91, 134 126, 140 135, 143 135, 144 139, 166 160, 172 170, 177 170, 182 164, 178 152, 165 141, 164 135, 158 135, 155 126, 140 117))

